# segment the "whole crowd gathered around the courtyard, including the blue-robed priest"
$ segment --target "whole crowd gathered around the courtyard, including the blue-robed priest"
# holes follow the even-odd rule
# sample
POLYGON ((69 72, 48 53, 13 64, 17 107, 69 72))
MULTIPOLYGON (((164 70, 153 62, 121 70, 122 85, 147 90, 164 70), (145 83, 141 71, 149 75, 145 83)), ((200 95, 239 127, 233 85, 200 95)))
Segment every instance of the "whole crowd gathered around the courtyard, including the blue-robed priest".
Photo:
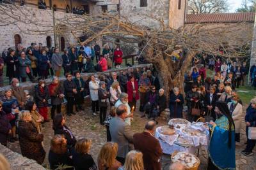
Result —
MULTIPOLYGON (((161 116, 167 104, 166 92, 161 89, 153 67, 142 69, 131 67, 127 71, 121 71, 120 74, 102 73, 101 76, 94 74, 82 78, 81 71, 88 67, 90 70, 99 67, 102 70, 98 69, 98 71, 106 70, 99 63, 104 59, 106 60, 104 63, 108 64, 107 59, 112 53, 108 46, 104 47, 102 55, 100 55, 100 47, 95 47, 96 45, 93 48, 81 46, 78 51, 77 48, 72 47, 65 50, 62 56, 56 48, 51 59, 48 59, 49 51, 44 47, 36 57, 35 53, 38 51, 36 52, 35 49, 38 46, 33 46, 34 44, 31 44, 31 48, 26 52, 21 50, 18 58, 15 56, 15 50, 10 50, 5 59, 8 61, 6 64, 12 64, 8 70, 13 74, 9 76, 11 89, 4 92, 0 103, 2 145, 6 146, 8 141, 19 140, 22 155, 42 164, 45 159, 42 124, 52 119, 54 137, 51 140, 48 157, 51 169, 61 165, 67 166, 68 169, 161 169, 163 150, 159 141, 154 138, 154 132, 158 123, 157 118, 161 116), (92 50, 100 66, 93 67, 92 50), (26 59, 29 55, 35 58, 26 59), (33 61, 36 67, 32 67, 33 61), (40 74, 33 96, 20 87, 19 78, 21 81, 26 80, 20 74, 22 72, 15 72, 17 68, 21 70, 26 63, 31 64, 30 75, 40 74), (58 80, 61 67, 64 67, 66 77, 63 83, 58 80), (52 82, 46 85, 44 79, 51 70, 54 76, 52 82), (84 96, 88 95, 92 101, 92 117, 99 115, 99 124, 106 127, 107 143, 100 149, 97 161, 90 155, 92 140, 76 139, 72 129, 65 124, 65 115, 61 114, 61 104, 64 99, 67 101, 67 115, 70 117, 76 115, 76 111, 84 110, 84 96), (137 110, 141 111, 141 118, 147 116, 151 120, 145 125, 145 131, 134 134, 131 126, 138 101, 140 106, 137 110), (48 106, 51 106, 51 118, 48 115, 48 106)), ((122 59, 122 51, 119 47, 113 55, 115 66, 120 66, 122 60, 115 59, 115 56, 122 59)), ((253 155, 252 150, 255 146, 255 140, 248 138, 248 129, 256 126, 256 99, 251 100, 244 114, 243 103, 235 89, 239 88, 241 81, 243 82, 246 71, 243 71, 244 69, 241 68, 243 66, 237 61, 234 61, 232 66, 226 62, 217 59, 212 65, 213 62, 211 60, 208 62, 205 57, 194 59, 191 71, 185 75, 184 89, 175 87, 169 95, 170 118, 187 118, 190 122, 204 118, 205 121, 210 122, 212 135, 208 169, 236 168, 235 149, 236 145, 241 145, 240 131, 244 118, 247 141, 246 148, 241 153, 246 156, 253 155), (207 66, 216 71, 212 78, 206 74, 207 66), (185 97, 181 94, 182 90, 186 94, 185 97), (188 108, 186 115, 183 114, 185 104, 188 108)), ((27 72, 25 74, 29 75, 27 72)), ((184 169, 184 167, 173 164, 170 169, 184 169)))

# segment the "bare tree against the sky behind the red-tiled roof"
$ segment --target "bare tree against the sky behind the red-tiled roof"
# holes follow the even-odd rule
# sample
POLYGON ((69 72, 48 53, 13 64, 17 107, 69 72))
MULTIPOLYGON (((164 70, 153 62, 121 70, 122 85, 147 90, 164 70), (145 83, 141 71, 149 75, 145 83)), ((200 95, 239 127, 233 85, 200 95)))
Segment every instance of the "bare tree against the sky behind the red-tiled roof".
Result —
POLYGON ((223 13, 228 11, 226 0, 188 0, 188 13, 223 13))

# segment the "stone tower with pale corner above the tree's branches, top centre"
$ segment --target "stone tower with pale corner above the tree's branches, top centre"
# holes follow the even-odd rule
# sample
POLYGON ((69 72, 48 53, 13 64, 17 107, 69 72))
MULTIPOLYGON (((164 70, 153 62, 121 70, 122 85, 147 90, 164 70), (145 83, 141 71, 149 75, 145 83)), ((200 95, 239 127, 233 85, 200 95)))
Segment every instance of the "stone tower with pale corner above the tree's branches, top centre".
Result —
POLYGON ((120 0, 120 14, 136 24, 158 28, 159 22, 147 16, 163 20, 174 29, 184 25, 186 0, 120 0))

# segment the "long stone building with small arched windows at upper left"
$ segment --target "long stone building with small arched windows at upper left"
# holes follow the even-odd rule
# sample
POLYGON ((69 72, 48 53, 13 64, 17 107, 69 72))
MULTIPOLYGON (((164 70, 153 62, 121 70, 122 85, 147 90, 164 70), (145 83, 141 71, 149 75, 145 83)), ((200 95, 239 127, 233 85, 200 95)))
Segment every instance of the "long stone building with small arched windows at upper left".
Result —
POLYGON ((118 0, 45 0, 44 2, 26 0, 23 3, 20 1, 15 1, 15 3, 2 1, 0 3, 3 8, 6 8, 6 11, 3 8, 0 10, 0 19, 4 21, 0 24, 0 52, 9 47, 15 48, 19 43, 28 47, 32 42, 42 43, 49 47, 58 46, 63 51, 67 46, 77 44, 77 39, 68 32, 66 25, 61 25, 63 34, 54 35, 52 28, 54 25, 61 24, 61 18, 81 13, 90 15, 99 15, 106 11, 116 13, 118 10, 118 0), (15 19, 9 18, 8 13, 14 14, 13 16, 18 21, 15 22, 15 19), (36 29, 44 31, 44 33, 37 33, 36 29), (48 29, 49 31, 47 31, 48 29))

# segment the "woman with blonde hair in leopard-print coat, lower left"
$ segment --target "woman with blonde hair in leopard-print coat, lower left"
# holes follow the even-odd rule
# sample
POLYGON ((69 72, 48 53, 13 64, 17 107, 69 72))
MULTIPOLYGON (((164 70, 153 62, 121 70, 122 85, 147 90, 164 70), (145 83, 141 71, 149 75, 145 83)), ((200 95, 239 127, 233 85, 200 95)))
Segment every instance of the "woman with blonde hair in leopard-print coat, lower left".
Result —
POLYGON ((45 158, 45 151, 42 146, 44 135, 38 133, 28 110, 20 112, 18 134, 22 156, 42 164, 45 158))

